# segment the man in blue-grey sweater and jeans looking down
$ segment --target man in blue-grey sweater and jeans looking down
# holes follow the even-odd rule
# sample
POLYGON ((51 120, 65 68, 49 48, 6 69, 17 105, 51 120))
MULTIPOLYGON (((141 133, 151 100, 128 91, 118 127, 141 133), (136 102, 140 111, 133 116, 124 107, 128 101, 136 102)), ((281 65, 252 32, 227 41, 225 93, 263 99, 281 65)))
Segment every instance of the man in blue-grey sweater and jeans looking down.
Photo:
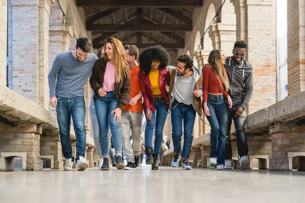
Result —
POLYGON ((71 171, 74 161, 70 142, 70 120, 72 116, 76 134, 77 170, 88 167, 85 160, 85 100, 84 85, 92 73, 98 57, 90 53, 92 44, 88 38, 79 38, 76 50, 59 53, 49 73, 50 103, 56 108, 60 142, 66 158, 65 171, 71 171))

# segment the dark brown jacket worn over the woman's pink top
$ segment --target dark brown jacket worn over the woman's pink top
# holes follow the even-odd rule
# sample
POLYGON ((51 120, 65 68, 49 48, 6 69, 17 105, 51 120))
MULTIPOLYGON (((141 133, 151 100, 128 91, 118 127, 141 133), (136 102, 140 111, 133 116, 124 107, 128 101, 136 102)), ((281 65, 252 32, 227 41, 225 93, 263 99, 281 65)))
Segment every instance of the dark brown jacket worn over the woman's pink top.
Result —
MULTIPOLYGON (((104 58, 100 58, 96 60, 93 66, 92 75, 90 77, 90 85, 94 91, 94 97, 93 97, 94 101, 97 100, 99 95, 98 93, 99 89, 102 88, 102 85, 104 83, 106 64, 107 61, 104 58)), ((127 77, 124 77, 124 79, 119 83, 115 83, 114 88, 115 88, 114 90, 115 97, 118 100, 117 107, 123 109, 123 107, 127 105, 129 102, 130 88, 131 88, 129 75, 127 77)))

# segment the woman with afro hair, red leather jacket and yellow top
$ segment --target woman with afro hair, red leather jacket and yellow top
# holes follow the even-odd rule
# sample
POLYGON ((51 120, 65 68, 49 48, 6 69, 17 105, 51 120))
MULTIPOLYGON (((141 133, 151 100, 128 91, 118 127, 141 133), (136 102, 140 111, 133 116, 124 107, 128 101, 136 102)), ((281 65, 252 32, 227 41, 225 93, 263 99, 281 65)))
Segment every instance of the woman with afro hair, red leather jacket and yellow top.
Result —
POLYGON ((158 170, 158 155, 163 140, 163 128, 168 114, 169 54, 162 46, 147 47, 140 54, 139 81, 143 94, 146 116, 145 154, 146 164, 151 170, 158 170), (155 128, 155 147, 153 152, 153 131, 155 128))

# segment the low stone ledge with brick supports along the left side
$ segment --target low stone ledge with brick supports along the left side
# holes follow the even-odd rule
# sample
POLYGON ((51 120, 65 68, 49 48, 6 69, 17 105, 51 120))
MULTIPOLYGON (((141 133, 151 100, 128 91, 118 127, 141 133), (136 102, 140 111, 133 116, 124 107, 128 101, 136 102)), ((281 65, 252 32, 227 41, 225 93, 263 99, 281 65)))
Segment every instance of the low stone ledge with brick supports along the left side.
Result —
MULTIPOLYGON (((70 133, 75 156, 73 126, 70 133)), ((93 160, 95 146, 93 138, 88 135, 86 145, 86 158, 93 167, 97 161, 93 160)), ((23 170, 41 170, 42 159, 50 160, 51 168, 63 168, 56 117, 34 101, 0 85, 0 171, 12 170, 14 157, 22 157, 23 170)))

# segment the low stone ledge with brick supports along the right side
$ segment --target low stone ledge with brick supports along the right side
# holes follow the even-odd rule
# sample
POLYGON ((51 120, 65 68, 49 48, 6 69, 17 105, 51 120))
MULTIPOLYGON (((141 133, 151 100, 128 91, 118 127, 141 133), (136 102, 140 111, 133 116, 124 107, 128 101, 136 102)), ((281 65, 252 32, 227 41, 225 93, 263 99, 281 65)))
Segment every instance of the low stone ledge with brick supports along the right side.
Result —
MULTIPOLYGON (((258 159, 259 169, 275 171, 305 170, 305 91, 290 96, 247 117, 246 132, 250 168, 258 159)), ((237 167, 238 153, 235 127, 231 128, 233 166, 237 167)), ((190 160, 193 166, 207 167, 210 134, 195 138, 190 160)), ((163 164, 170 165, 173 152, 165 152, 163 164)))

